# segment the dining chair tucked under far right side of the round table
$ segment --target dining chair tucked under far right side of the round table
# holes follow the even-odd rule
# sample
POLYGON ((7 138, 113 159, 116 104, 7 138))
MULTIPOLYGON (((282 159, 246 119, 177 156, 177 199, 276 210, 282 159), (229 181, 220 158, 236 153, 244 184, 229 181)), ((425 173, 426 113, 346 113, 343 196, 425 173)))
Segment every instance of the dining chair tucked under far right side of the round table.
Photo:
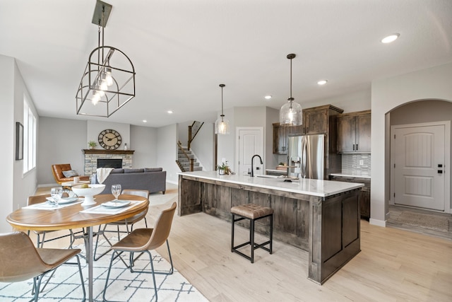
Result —
MULTIPOLYGON (((141 197, 145 197, 146 199, 149 199, 149 191, 148 190, 124 189, 124 190, 122 190, 122 194, 137 195, 137 196, 141 196, 141 197)), ((109 243, 109 245, 111 246, 112 242, 109 240, 109 238, 107 238, 107 236, 105 236, 105 233, 117 233, 118 241, 119 241, 121 238, 121 233, 129 234, 131 231, 133 231, 133 225, 135 223, 137 223, 138 221, 141 221, 141 219, 144 219, 145 226, 146 226, 146 228, 148 228, 148 221, 146 220, 147 213, 148 213, 148 209, 146 208, 144 211, 141 211, 140 213, 136 214, 135 216, 129 217, 128 219, 122 219, 119 221, 107 223, 103 226, 99 226, 99 231, 97 231, 96 245, 94 248, 94 260, 95 261, 99 260, 100 257, 104 256, 105 254, 107 254, 107 252, 112 250, 111 248, 109 248, 109 250, 103 252, 101 255, 96 256, 97 245, 99 243, 100 235, 104 236, 105 240, 107 240, 107 243, 109 243), (117 230, 109 231, 109 230, 107 230, 107 226, 116 226, 117 230), (119 229, 120 226, 125 226, 126 231, 121 231, 119 229), (129 231, 129 226, 131 227, 130 231, 129 231), (102 228, 102 230, 101 230, 101 228, 102 228)))

